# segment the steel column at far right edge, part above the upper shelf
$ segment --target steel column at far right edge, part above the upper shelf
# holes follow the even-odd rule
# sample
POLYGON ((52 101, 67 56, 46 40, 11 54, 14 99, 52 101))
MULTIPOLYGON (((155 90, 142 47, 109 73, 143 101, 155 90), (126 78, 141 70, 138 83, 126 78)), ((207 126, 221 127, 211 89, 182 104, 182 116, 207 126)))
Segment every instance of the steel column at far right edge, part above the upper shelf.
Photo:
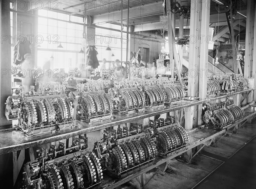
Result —
MULTIPOLYGON (((245 33, 244 77, 252 77, 253 63, 253 33, 255 21, 255 1, 247 1, 247 18, 245 33)), ((255 49, 255 48, 254 48, 255 49)), ((256 56, 256 54, 255 54, 256 56)), ((254 57, 255 59, 256 57, 254 57)), ((255 78, 255 77, 254 77, 255 78)))

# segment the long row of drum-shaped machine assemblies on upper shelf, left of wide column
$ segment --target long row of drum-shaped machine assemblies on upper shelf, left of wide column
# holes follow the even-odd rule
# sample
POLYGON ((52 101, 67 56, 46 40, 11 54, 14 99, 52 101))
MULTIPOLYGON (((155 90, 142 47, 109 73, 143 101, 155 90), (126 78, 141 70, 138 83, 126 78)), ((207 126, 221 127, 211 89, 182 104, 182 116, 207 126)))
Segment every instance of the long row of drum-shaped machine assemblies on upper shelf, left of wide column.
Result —
POLYGON ((76 119, 93 123, 112 119, 113 112, 130 115, 162 108, 186 95, 182 86, 157 80, 119 82, 114 87, 104 80, 95 81, 78 84, 75 92, 68 93, 57 90, 63 86, 49 88, 41 86, 40 92, 31 90, 29 94, 20 90, 19 95, 9 96, 7 119, 17 119, 21 131, 36 135, 71 128, 76 119))

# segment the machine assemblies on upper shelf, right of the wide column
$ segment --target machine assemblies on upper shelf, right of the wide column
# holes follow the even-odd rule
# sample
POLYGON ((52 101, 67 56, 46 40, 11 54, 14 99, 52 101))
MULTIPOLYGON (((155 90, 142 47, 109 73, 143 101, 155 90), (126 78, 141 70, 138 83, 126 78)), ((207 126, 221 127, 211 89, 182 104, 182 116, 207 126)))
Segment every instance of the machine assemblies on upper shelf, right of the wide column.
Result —
POLYGON ((207 94, 230 93, 236 89, 244 89, 249 86, 249 80, 241 75, 225 75, 221 78, 213 78, 207 82, 207 94))

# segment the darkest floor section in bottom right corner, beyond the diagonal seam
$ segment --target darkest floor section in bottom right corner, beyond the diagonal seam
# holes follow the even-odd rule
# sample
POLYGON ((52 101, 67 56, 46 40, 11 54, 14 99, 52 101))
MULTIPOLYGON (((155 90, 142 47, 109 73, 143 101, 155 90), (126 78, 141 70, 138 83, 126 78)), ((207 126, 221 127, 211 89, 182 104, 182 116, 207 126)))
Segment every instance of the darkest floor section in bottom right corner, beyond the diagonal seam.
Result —
POLYGON ((256 137, 195 189, 256 189, 256 137))

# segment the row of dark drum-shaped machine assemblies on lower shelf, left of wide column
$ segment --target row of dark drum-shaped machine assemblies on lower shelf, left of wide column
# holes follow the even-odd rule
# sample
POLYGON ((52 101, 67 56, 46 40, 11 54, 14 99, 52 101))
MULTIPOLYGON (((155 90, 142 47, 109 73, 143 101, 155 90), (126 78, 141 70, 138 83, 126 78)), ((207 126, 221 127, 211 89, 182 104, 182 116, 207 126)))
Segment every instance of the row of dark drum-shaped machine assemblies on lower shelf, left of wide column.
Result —
POLYGON ((23 168, 23 189, 94 188, 110 178, 140 172, 189 145, 186 131, 173 122, 175 118, 169 116, 151 120, 147 128, 138 123, 131 123, 130 129, 108 128, 93 150, 81 135, 70 147, 61 141, 56 146, 36 147, 35 160, 23 168))

